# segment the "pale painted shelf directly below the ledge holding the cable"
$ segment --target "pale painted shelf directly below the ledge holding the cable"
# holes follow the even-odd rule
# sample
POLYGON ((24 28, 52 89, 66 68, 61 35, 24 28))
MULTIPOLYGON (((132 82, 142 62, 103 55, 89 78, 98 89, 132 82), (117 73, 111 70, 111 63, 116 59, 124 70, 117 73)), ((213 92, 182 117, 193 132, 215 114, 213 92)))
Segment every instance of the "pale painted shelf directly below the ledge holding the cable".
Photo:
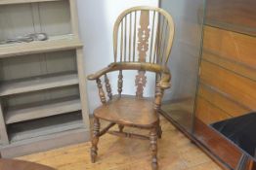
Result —
POLYGON ((48 89, 66 85, 78 85, 78 76, 75 72, 66 72, 19 79, 0 84, 0 96, 48 89))

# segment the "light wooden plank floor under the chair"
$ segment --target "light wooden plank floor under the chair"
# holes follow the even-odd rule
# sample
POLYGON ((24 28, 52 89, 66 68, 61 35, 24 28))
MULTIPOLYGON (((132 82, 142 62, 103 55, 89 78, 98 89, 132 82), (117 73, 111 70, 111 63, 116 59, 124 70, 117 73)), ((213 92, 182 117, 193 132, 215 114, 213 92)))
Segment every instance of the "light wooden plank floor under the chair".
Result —
MULTIPOLYGON (((161 118, 162 139, 158 140, 159 170, 221 170, 170 122, 161 118)), ((128 131, 137 129, 126 128, 128 131)), ((148 131, 140 132, 147 134, 148 131)), ((149 170, 149 142, 109 134, 100 138, 96 163, 90 161, 90 143, 68 146, 45 153, 18 157, 59 170, 149 170)))

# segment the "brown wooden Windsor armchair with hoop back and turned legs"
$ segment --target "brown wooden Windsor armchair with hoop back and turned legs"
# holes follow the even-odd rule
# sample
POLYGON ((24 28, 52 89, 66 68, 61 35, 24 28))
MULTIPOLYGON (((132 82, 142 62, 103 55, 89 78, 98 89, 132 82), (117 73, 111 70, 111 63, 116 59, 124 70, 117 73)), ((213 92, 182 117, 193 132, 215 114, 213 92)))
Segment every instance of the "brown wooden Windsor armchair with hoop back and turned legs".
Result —
POLYGON ((170 87, 171 75, 167 62, 173 36, 173 19, 160 8, 134 7, 117 17, 113 28, 114 62, 107 68, 88 76, 88 80, 96 81, 103 104, 94 111, 92 162, 96 161, 99 137, 117 124, 119 131, 108 131, 108 133, 150 141, 151 166, 153 170, 157 169, 157 137, 160 138, 162 133, 158 111, 164 89, 170 87), (138 70, 135 79, 137 86, 135 96, 121 94, 123 70, 138 70), (116 95, 112 95, 107 78, 107 73, 112 71, 119 71, 116 95), (147 83, 146 71, 155 73, 155 96, 152 100, 143 96, 147 83), (108 101, 103 89, 102 77, 105 80, 108 101), (110 122, 102 131, 100 131, 100 119, 110 122), (149 129, 149 136, 124 132, 124 126, 149 129))

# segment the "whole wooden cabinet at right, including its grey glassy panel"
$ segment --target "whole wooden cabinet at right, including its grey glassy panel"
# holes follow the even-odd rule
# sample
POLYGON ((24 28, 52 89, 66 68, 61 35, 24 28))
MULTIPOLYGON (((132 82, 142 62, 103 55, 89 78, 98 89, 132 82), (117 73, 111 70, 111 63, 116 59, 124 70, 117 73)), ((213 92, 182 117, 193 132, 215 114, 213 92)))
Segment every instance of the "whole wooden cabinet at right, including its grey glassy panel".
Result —
POLYGON ((173 0, 161 6, 178 28, 170 100, 162 114, 225 168, 234 169, 241 152, 209 124, 256 110, 256 1, 173 0))

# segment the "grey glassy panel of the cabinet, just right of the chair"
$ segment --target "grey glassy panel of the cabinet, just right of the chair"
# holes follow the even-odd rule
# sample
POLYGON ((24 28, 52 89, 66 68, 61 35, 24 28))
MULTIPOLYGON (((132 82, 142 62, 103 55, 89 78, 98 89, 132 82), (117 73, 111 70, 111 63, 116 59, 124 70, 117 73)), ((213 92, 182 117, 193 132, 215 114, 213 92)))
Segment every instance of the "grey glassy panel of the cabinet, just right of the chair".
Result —
POLYGON ((175 22, 175 38, 169 61, 172 87, 165 92, 162 110, 191 132, 204 0, 162 0, 160 5, 172 15, 175 22))

